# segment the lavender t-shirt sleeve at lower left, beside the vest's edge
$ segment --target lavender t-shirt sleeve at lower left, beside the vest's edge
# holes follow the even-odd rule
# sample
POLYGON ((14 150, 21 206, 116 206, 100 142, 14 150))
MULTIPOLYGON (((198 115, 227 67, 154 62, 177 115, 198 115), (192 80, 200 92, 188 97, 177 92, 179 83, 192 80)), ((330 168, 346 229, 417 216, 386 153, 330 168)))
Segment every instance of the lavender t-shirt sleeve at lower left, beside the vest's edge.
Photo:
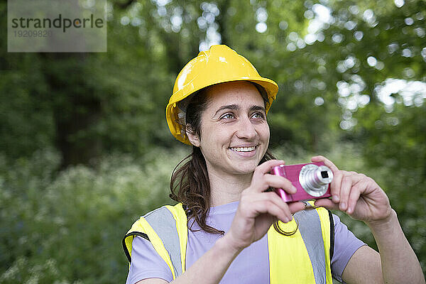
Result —
POLYGON ((134 284, 146 278, 173 280, 167 263, 155 251, 151 241, 136 236, 132 242, 131 263, 126 284, 134 284))

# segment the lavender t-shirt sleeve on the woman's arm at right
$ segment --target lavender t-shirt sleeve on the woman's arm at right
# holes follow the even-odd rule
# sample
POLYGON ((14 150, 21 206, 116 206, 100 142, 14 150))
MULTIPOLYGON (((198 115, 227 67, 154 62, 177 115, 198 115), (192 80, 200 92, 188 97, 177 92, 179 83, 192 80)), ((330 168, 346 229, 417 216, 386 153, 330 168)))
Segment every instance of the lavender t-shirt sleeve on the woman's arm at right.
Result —
POLYGON ((342 273, 351 256, 361 246, 365 246, 364 241, 356 238, 348 227, 340 221, 340 218, 333 214, 334 220, 334 253, 332 257, 332 275, 342 282, 342 273))

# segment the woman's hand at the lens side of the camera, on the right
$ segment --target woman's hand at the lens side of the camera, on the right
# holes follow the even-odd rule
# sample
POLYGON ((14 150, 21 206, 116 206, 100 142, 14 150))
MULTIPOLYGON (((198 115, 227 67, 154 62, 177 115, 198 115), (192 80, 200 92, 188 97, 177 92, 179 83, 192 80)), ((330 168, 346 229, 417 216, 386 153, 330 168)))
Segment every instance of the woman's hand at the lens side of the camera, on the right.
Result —
POLYGON ((361 173, 339 170, 321 155, 313 157, 312 162, 323 162, 334 175, 330 185, 332 199, 317 200, 315 206, 339 209, 366 223, 380 222, 391 216, 388 196, 372 178, 361 173))

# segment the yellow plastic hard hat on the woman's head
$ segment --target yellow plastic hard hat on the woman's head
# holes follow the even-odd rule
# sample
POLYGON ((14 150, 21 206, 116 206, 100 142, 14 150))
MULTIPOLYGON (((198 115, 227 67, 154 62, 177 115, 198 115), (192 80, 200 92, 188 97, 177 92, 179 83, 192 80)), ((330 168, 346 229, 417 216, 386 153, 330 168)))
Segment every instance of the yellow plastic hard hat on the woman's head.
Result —
POLYGON ((255 82, 266 90, 268 95, 266 112, 268 112, 278 93, 278 84, 261 77, 249 60, 226 45, 212 45, 209 50, 200 52, 180 71, 173 87, 172 97, 165 109, 165 117, 173 136, 191 145, 184 130, 186 109, 179 102, 212 84, 241 80, 255 82))

